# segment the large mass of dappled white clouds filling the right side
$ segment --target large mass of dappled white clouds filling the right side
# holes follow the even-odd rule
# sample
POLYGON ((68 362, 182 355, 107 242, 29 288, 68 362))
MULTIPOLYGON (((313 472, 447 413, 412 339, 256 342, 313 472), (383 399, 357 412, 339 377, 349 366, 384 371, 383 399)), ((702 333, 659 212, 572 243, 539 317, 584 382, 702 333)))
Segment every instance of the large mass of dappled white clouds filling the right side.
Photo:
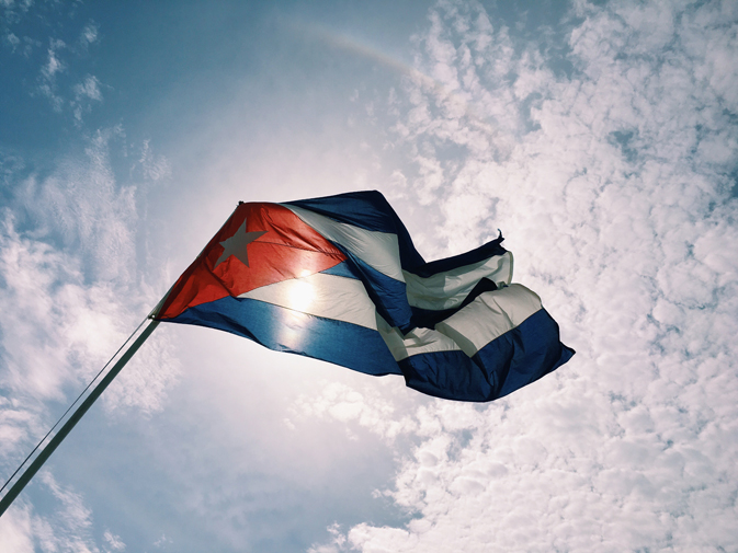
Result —
MULTIPOLYGON (((738 548, 728 4, 578 2, 546 38, 569 53, 567 74, 479 4, 431 10, 416 66, 441 85, 406 80, 396 146, 413 165, 398 194, 441 221, 438 256, 501 228, 514 279, 579 355, 485 408, 421 407, 422 440, 386 492, 415 518, 354 526, 352 548, 738 548), (468 424, 451 431, 458 413, 468 424)), ((315 413, 361 420, 350 391, 329 395, 315 413)))

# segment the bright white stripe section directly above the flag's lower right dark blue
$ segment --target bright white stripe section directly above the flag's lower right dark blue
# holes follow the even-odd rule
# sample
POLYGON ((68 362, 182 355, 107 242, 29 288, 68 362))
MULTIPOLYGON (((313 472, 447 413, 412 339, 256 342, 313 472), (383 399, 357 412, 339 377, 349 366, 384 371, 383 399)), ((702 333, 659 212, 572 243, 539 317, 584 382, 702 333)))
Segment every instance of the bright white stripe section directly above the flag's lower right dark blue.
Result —
POLYGON ((435 329, 474 356, 495 338, 511 331, 542 308, 541 298, 522 285, 481 293, 435 329))

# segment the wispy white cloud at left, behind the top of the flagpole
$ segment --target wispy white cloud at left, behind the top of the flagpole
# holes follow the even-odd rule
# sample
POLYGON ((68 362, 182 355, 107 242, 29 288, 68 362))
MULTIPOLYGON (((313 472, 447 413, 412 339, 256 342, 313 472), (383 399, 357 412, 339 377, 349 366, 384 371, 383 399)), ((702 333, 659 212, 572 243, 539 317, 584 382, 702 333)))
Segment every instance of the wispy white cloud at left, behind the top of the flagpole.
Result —
MULTIPOLYGON (((0 295, 15 309, 1 323, 3 380, 33 398, 58 396, 71 364, 84 367, 83 378, 96 372, 156 303, 136 276, 136 191, 120 186, 110 165, 109 142, 120 133, 99 133, 86 159, 68 159, 44 180, 26 178, 18 196, 30 219, 23 234, 5 217, 0 295)), ((105 401, 160 408, 177 373, 169 355, 154 336, 105 401)))

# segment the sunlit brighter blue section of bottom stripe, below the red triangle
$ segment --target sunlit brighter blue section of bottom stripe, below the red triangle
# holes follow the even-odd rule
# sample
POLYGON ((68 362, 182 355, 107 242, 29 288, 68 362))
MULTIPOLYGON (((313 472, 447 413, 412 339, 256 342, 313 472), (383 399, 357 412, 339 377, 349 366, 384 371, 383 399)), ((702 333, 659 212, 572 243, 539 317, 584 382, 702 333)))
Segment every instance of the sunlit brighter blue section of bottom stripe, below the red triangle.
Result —
POLYGON ((329 361, 366 375, 400 375, 377 331, 230 296, 189 308, 169 322, 218 329, 270 349, 329 361))

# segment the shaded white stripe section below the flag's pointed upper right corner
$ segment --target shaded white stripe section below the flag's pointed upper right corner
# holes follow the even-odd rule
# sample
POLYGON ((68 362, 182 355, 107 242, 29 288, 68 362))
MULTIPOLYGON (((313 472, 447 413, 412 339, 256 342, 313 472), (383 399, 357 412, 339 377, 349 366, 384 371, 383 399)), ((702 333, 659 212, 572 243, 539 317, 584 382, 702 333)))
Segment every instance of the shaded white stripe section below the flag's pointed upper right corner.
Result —
POLYGON ((498 286, 512 280, 512 254, 506 252, 488 260, 422 278, 405 273, 410 306, 442 310, 459 306, 479 279, 489 278, 498 286))

